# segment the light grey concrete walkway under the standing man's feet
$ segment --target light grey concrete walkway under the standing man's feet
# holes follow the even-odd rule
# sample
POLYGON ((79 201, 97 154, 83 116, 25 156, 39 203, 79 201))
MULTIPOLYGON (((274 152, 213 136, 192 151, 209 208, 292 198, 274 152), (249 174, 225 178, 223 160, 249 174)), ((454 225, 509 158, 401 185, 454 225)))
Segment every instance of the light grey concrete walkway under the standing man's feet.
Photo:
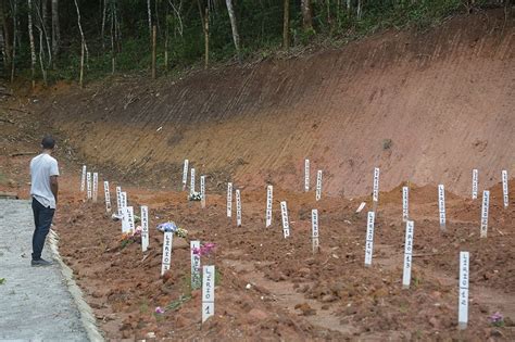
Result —
POLYGON ((0 341, 90 341, 60 264, 30 266, 33 231, 28 201, 0 200, 0 341))

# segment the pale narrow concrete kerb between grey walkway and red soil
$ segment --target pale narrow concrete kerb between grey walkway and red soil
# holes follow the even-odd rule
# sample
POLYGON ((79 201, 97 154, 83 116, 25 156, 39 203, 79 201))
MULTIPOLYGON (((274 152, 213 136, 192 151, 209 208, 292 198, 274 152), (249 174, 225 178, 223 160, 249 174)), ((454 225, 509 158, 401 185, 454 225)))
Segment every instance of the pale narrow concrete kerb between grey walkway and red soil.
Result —
POLYGON ((80 320, 86 330, 86 333, 88 334, 89 340, 92 342, 104 342, 105 339, 103 338, 100 329, 98 328, 93 311, 84 300, 83 291, 73 279, 73 270, 63 262, 61 254, 59 254, 59 236, 52 229, 48 235, 48 242, 50 244, 50 250, 52 252, 53 258, 60 265, 61 274, 63 275, 63 278, 66 282, 66 287, 70 291, 70 294, 72 295, 75 305, 77 305, 77 309, 80 314, 80 320))

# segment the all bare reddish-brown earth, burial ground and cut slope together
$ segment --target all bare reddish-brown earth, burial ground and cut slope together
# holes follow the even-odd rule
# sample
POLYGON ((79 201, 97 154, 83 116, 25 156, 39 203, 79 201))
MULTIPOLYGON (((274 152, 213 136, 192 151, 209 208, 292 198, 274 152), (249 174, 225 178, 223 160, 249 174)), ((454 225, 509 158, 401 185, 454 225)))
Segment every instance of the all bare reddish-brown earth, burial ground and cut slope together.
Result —
POLYGON ((488 12, 427 36, 390 34, 344 51, 178 84, 126 80, 21 97, 2 110, 8 121, 0 122, 0 191, 28 195, 30 156, 11 154, 35 151, 43 132, 59 128, 61 253, 113 341, 151 340, 149 332, 213 341, 513 341, 515 181, 507 210, 499 183, 502 168, 515 174, 512 24, 503 26, 499 14, 488 12), (312 177, 317 168, 325 173, 319 202, 314 192, 298 192, 305 156, 312 177), (177 191, 185 157, 210 176, 205 210, 177 191), (146 254, 138 243, 122 246, 121 225, 102 203, 84 201, 84 159, 100 180, 112 181, 112 191, 123 186, 130 205, 149 205, 146 254), (379 197, 373 267, 365 268, 374 166, 381 167, 387 191, 379 197), (482 240, 480 200, 469 200, 474 167, 480 169, 480 190, 491 190, 489 236, 482 240), (242 190, 240 228, 226 217, 228 179, 242 190), (420 186, 411 183, 414 273, 412 287, 402 290, 406 179, 420 186), (266 182, 275 185, 268 229, 266 182), (447 235, 439 231, 439 182, 456 193, 447 192, 447 235), (280 228, 282 200, 291 221, 288 240, 280 228), (356 214, 361 201, 367 206, 356 214), (315 207, 322 250, 312 255, 315 207), (162 235, 154 227, 169 219, 189 231, 188 239, 217 244, 203 261, 219 270, 216 316, 204 326, 200 293, 189 289, 187 241, 176 239, 172 271, 160 277, 162 235), (460 251, 472 257, 464 331, 456 328, 460 251), (154 315, 156 306, 176 304, 181 295, 191 299, 154 315), (504 315, 504 327, 488 321, 495 312, 504 315))

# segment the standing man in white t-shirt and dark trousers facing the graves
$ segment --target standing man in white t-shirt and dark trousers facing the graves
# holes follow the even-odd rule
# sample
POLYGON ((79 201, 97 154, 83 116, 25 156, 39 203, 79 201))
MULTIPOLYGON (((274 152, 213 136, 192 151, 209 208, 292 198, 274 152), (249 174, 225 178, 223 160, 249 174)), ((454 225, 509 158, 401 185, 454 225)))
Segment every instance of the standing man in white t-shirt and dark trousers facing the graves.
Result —
POLYGON ((51 156, 55 140, 47 136, 41 141, 42 152, 30 161, 30 195, 33 197, 34 224, 32 266, 50 266, 51 262, 41 258, 45 240, 52 225, 58 203, 58 161, 51 156))

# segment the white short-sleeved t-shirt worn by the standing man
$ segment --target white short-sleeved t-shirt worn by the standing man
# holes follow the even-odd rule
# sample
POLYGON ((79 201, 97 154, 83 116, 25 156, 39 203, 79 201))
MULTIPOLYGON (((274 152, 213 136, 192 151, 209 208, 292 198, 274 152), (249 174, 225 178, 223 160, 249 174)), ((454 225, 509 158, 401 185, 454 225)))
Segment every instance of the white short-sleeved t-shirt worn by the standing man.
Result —
POLYGON ((50 177, 59 176, 58 161, 41 153, 30 161, 30 195, 46 207, 55 208, 55 198, 50 188, 50 177))

